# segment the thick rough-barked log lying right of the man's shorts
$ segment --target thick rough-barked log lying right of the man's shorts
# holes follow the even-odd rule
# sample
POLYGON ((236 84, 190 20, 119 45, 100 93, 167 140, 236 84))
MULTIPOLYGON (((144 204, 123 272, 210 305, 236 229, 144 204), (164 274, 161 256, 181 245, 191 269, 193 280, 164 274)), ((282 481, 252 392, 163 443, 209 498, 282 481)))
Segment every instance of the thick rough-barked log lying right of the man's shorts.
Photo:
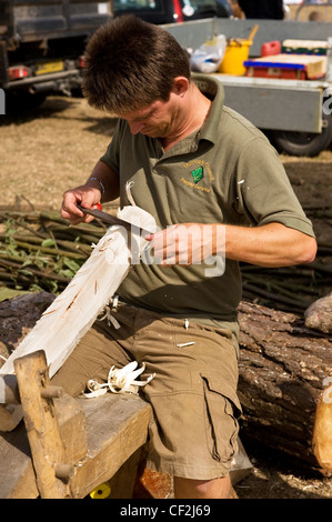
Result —
POLYGON ((244 301, 239 320, 242 432, 331 476, 331 335, 299 314, 244 301))

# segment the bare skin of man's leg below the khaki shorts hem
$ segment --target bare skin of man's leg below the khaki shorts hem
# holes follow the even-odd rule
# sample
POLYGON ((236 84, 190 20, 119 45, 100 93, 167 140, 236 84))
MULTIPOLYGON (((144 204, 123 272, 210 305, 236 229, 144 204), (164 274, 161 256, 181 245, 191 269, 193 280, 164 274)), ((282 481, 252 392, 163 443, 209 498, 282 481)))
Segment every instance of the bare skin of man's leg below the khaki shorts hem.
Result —
POLYGON ((229 499, 230 492, 230 475, 213 480, 174 476, 175 499, 229 499))

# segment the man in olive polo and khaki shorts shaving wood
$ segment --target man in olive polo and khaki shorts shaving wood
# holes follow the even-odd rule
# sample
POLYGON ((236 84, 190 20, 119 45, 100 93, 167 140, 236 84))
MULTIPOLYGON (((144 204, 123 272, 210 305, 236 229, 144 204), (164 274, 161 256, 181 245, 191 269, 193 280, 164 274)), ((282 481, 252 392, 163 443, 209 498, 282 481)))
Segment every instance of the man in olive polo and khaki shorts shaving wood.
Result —
POLYGON ((155 373, 142 390, 153 410, 148 464, 173 475, 177 498, 228 498, 241 409, 239 261, 311 262, 312 227, 268 140, 223 107, 218 81, 191 79, 161 27, 115 19, 85 60, 89 103, 119 123, 91 177, 64 193, 62 217, 88 221, 77 203, 120 195, 160 230, 145 237, 155 262, 134 264, 118 290, 120 328, 97 321, 53 380, 78 394, 113 364, 144 362, 142 379, 155 373))

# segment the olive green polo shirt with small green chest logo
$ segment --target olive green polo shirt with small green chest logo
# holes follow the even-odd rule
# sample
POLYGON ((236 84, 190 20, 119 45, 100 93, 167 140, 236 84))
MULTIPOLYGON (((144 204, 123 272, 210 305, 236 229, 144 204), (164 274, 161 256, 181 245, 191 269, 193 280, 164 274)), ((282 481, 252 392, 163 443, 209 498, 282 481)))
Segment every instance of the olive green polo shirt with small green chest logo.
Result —
MULTIPOLYGON (((128 123, 119 120, 101 160, 120 177, 121 207, 130 204, 125 183, 132 182, 135 204, 162 229, 188 222, 247 227, 279 222, 314 235, 266 138, 223 106, 218 80, 201 74, 194 80, 213 100, 210 116, 199 132, 167 152, 158 139, 133 135, 128 123)), ((207 268, 211 265, 162 268, 142 262, 131 269, 119 294, 165 315, 234 324, 241 299, 239 263, 227 260, 223 274, 207 268)))

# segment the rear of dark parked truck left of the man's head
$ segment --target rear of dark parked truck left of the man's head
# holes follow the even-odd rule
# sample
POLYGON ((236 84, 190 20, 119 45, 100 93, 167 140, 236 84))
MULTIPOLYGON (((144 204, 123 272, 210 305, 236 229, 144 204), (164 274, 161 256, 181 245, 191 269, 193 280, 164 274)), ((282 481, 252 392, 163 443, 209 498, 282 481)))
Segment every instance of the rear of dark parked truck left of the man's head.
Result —
POLYGON ((1 0, 0 88, 6 106, 33 107, 82 80, 90 36, 112 17, 100 0, 1 0))

